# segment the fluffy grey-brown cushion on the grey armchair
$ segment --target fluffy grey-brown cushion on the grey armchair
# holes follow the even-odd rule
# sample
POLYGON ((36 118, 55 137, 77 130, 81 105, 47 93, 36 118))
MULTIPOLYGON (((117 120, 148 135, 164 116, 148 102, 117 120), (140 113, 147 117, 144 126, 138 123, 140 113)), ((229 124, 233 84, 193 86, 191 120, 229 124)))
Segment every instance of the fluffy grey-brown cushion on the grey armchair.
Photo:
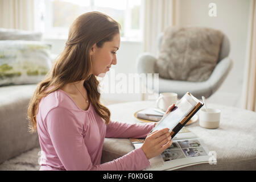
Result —
POLYGON ((167 28, 155 72, 172 80, 208 80, 217 64, 222 38, 222 32, 212 28, 167 28))

